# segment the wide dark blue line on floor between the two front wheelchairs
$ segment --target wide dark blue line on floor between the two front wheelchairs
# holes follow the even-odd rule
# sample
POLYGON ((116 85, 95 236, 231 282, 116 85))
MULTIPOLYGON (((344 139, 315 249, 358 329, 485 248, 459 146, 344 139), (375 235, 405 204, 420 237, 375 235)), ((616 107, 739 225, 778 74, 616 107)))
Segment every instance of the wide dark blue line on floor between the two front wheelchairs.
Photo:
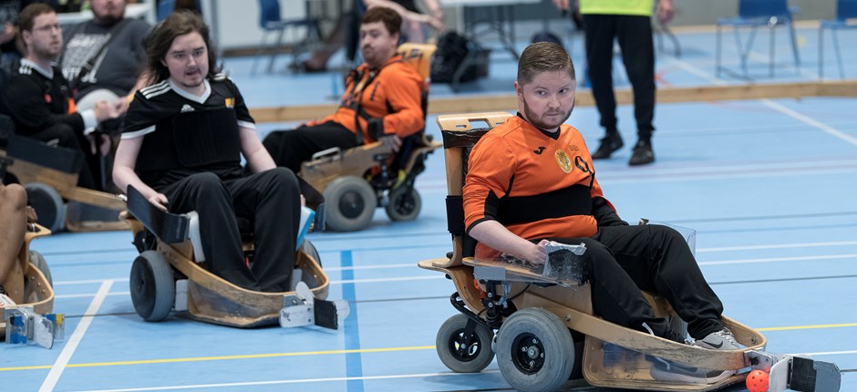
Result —
MULTIPOLYGON (((343 267, 351 267, 354 265, 354 260, 350 250, 342 251, 340 255, 340 263, 342 263, 343 267)), ((342 279, 346 282, 353 281, 354 270, 343 270, 342 279)), ((355 294, 354 283, 342 285, 342 297, 351 304, 351 313, 348 315, 348 318, 346 318, 346 325, 344 328, 346 334, 346 350, 357 350, 360 348, 360 323, 357 320, 357 297, 355 294)), ((349 392, 363 392, 363 356, 359 352, 346 354, 346 377, 349 377, 349 392)))

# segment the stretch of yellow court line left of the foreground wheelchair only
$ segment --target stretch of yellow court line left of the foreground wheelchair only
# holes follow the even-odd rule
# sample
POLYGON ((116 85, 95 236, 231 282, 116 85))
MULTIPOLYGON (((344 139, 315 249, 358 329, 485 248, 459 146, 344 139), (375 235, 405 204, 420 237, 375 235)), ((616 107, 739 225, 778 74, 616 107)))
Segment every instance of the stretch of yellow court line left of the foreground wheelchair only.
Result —
MULTIPOLYGON (((297 353, 271 353, 271 354, 249 354, 244 356, 196 356, 190 358, 166 358, 166 359, 144 359, 139 361, 119 361, 119 362, 90 362, 84 364, 69 364, 66 367, 96 367, 96 366, 127 366, 127 365, 149 365, 149 364, 170 364, 176 362, 202 362, 202 361, 222 361, 229 359, 255 359, 255 358, 274 358, 282 356, 327 356, 333 354, 365 354, 365 353, 388 353, 394 351, 415 351, 415 350, 434 350, 435 346, 409 346, 409 347, 387 347, 387 348, 360 348, 356 350, 329 350, 329 351, 304 351, 297 353)), ((0 367, 0 372, 15 371, 15 370, 38 370, 49 369, 50 365, 46 366, 16 366, 16 367, 0 367)))

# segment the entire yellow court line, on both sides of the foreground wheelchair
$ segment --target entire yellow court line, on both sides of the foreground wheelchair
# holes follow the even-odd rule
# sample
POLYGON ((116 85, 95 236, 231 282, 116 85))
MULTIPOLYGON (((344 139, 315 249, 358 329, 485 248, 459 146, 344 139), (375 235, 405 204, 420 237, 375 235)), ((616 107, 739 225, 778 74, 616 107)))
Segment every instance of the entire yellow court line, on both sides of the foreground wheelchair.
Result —
MULTIPOLYGON (((822 328, 847 328, 855 327, 857 323, 848 324, 825 324, 825 325, 794 325, 794 326, 773 326, 767 328, 756 328, 757 331, 791 331, 800 329, 822 329, 822 328)), ((66 367, 98 367, 98 366, 128 366, 128 365, 150 365, 150 364, 170 364, 178 362, 203 362, 203 361, 223 361, 232 359, 257 359, 257 358, 275 358, 284 356, 329 356, 336 354, 367 354, 367 353, 390 353, 395 351, 416 351, 416 350, 433 350, 435 346, 408 346, 408 347, 387 347, 387 348, 360 348, 356 350, 328 350, 328 351, 303 351, 297 353, 271 353, 271 354, 250 354, 243 356, 196 356, 189 358, 165 358, 165 359, 145 359, 139 361, 119 361, 119 362, 89 362, 83 364, 69 364, 66 367)), ((39 370, 50 369, 50 365, 46 366, 15 366, 15 367, 0 367, 0 372, 9 372, 16 370, 39 370)))

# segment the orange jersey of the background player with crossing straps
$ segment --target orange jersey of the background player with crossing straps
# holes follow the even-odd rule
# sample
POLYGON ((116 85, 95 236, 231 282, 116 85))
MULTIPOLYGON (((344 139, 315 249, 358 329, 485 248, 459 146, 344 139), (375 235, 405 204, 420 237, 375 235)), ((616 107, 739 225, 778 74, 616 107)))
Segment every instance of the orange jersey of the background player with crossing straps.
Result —
POLYGON ((357 67, 353 75, 360 78, 356 80, 356 77, 348 77, 346 92, 336 113, 316 121, 315 124, 334 121, 356 132, 355 121, 359 121, 360 129, 363 129, 364 133, 363 139, 367 143, 375 141, 375 138, 368 134, 367 120, 355 114, 356 100, 369 117, 383 119, 385 134, 404 138, 423 129, 425 116, 421 96, 425 82, 414 67, 402 62, 401 56, 390 57, 377 70, 370 70, 363 64, 357 67))

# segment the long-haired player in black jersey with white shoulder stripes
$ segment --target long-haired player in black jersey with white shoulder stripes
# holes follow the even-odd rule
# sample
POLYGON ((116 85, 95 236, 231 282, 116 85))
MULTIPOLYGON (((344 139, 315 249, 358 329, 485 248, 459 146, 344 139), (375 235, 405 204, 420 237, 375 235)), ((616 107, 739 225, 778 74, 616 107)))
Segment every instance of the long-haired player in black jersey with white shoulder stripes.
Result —
POLYGON ((129 106, 116 185, 133 186, 163 211, 196 211, 212 273, 250 290, 289 291, 298 181, 291 170, 275 167, 241 93, 215 67, 208 26, 189 11, 173 13, 154 29, 146 53, 153 84, 140 88, 129 106), (241 154, 250 176, 243 176, 241 154), (236 216, 253 224, 249 268, 236 216))

